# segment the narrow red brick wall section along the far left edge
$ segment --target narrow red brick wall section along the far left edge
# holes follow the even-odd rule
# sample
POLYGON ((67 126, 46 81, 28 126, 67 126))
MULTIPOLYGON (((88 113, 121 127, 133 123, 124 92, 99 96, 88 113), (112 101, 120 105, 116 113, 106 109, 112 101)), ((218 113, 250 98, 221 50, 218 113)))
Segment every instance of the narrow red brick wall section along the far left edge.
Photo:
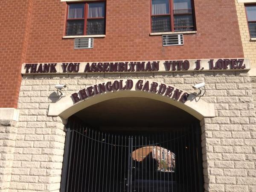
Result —
POLYGON ((17 107, 31 5, 31 0, 0 3, 0 108, 17 107))

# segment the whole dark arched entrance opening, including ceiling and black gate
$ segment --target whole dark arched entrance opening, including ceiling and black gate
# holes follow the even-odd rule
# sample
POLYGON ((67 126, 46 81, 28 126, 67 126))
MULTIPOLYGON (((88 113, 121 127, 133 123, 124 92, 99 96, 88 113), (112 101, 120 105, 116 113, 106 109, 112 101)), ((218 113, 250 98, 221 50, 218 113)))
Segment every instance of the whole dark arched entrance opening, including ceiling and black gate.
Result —
POLYGON ((165 102, 109 99, 70 116, 61 192, 202 192, 199 120, 165 102))

